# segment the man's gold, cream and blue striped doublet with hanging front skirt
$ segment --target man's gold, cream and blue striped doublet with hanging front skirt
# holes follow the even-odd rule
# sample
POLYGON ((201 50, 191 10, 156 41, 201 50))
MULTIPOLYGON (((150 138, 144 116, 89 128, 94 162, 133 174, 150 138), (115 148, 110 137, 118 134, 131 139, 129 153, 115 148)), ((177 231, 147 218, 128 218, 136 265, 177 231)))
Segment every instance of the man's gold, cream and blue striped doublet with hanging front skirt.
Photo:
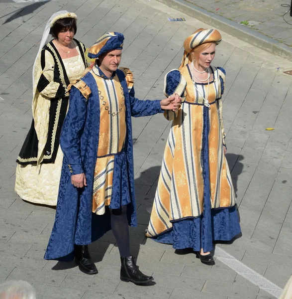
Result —
POLYGON ((126 137, 125 98, 117 75, 104 79, 94 67, 98 87, 100 120, 94 178, 93 212, 102 215, 110 205, 115 154, 124 148, 126 137))

